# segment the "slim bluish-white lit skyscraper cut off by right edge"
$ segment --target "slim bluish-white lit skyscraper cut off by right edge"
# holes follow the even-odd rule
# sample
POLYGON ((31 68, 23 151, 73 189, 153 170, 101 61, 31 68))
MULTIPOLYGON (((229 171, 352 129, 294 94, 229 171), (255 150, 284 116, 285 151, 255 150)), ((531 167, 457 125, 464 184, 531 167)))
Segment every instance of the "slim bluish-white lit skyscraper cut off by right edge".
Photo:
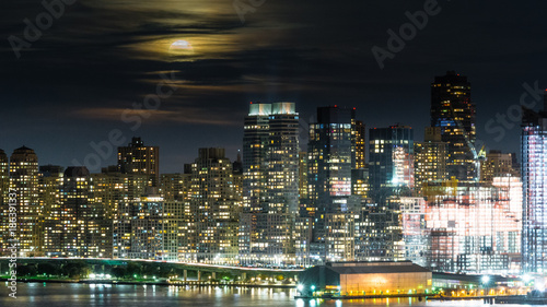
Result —
POLYGON ((525 110, 521 138, 525 272, 547 272, 547 93, 543 113, 525 110))

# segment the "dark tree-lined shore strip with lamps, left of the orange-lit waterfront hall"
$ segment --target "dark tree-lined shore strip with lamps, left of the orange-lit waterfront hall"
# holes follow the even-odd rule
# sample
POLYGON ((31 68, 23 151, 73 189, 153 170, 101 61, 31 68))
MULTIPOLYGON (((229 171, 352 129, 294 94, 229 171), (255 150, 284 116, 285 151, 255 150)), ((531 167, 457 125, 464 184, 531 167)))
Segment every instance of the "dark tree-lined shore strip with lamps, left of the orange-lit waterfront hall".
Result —
POLYGON ((9 259, 0 259, 1 280, 8 280, 9 271, 16 270, 18 280, 28 282, 167 283, 184 281, 186 276, 186 281, 203 283, 290 286, 294 285, 299 273, 299 271, 288 270, 242 270, 228 267, 107 259, 19 258, 16 268, 10 268, 9 263, 9 259))

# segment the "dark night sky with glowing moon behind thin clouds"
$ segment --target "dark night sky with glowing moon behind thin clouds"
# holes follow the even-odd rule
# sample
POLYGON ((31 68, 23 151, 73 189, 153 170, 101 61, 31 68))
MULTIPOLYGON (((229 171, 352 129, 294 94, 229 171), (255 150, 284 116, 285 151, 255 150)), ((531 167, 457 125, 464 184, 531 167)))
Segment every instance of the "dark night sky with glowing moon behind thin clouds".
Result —
MULTIPOLYGON (((223 146, 234 158, 248 103, 258 101, 294 102, 303 122, 318 106, 353 106, 368 127, 409 125, 421 140, 430 84, 455 70, 472 82, 478 138, 519 152, 517 125, 497 140, 485 125, 519 104, 524 82, 547 86, 547 2, 440 0, 380 69, 373 46, 386 48, 387 31, 429 1, 266 0, 242 23, 232 0, 78 0, 19 59, 13 37, 24 39, 24 20, 36 24, 46 10, 0 1, 0 149, 10 155, 24 144, 40 165, 69 166, 119 129, 125 143, 138 135, 160 146, 162 173, 182 172, 198 147, 223 146), (126 111, 125 122, 161 73, 176 76, 176 92, 155 110, 126 111), (135 117, 147 118, 137 128, 135 117)), ((103 166, 115 164, 115 154, 105 157, 103 166)))

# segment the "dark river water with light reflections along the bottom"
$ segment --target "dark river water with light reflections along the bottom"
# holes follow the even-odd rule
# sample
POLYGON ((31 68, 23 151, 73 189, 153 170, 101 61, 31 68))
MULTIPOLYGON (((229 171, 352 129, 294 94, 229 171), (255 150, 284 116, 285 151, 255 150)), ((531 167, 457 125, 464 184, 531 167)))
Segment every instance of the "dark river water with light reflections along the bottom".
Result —
MULTIPOLYGON (((86 285, 56 283, 19 283, 18 298, 8 296, 10 291, 1 283, 0 306, 39 307, 370 307, 370 306, 431 306, 431 307, 485 307, 482 302, 418 302, 417 299, 356 299, 303 300, 294 299, 293 290, 174 287, 142 285, 86 285)), ((499 305, 503 307, 525 305, 499 305)))

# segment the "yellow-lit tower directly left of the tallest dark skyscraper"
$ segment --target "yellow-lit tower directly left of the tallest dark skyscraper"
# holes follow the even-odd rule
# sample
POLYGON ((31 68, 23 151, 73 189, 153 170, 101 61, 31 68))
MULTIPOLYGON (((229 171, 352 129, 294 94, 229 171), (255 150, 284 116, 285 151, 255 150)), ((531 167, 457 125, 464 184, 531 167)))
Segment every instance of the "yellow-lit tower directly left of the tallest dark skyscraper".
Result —
POLYGON ((415 142, 415 186, 418 194, 421 194, 423 185, 447 180, 446 157, 441 128, 426 128, 423 142, 415 142))

